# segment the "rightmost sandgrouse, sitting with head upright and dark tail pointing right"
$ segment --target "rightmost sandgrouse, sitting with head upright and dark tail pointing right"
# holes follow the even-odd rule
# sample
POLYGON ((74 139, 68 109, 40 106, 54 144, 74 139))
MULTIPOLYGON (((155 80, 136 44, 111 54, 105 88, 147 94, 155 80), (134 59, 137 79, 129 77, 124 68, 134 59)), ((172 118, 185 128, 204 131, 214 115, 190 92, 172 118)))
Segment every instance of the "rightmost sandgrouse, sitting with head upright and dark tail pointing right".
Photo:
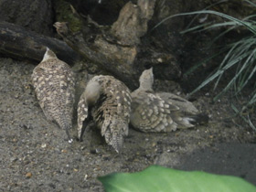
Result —
POLYGON ((171 132, 177 128, 195 126, 197 121, 208 121, 190 102, 175 94, 155 93, 153 69, 145 69, 140 87, 132 92, 131 123, 142 132, 171 132))

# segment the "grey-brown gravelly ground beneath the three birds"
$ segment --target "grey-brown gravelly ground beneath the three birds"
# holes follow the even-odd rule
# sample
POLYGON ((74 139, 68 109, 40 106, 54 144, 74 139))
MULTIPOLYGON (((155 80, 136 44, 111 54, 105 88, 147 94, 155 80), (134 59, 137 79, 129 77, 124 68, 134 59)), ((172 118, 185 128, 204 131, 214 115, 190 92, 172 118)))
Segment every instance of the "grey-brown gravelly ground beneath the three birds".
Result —
MULTIPOLYGON (((37 103, 30 80, 34 68, 0 59, 0 191, 103 191, 97 176, 153 164, 242 176, 256 185, 256 136, 225 120, 228 99, 197 98, 197 107, 210 114, 208 125, 174 133, 130 129, 123 152, 116 154, 96 129, 81 143, 65 141, 65 131, 48 122, 37 103)), ((77 76, 79 90, 85 72, 77 76)))

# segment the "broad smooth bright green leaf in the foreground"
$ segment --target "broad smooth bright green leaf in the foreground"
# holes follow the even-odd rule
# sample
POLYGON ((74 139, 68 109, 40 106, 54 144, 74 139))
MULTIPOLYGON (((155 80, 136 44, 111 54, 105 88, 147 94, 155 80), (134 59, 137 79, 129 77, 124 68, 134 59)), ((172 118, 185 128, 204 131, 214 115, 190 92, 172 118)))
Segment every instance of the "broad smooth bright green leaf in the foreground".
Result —
POLYGON ((101 176, 107 192, 256 192, 256 187, 236 176, 201 171, 179 171, 152 165, 142 172, 101 176))

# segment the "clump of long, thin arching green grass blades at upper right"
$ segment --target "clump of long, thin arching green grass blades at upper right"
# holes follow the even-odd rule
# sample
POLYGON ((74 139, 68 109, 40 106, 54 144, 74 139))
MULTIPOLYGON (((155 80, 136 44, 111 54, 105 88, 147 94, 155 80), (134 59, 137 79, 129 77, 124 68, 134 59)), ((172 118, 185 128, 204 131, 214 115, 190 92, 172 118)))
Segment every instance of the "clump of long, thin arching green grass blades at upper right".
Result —
MULTIPOLYGON (((224 2, 220 1, 219 3, 224 2)), ((253 6, 256 8, 256 4, 253 3, 250 0, 245 0, 247 4, 253 6)), ((219 100, 219 97, 226 93, 227 91, 230 91, 232 93, 232 96, 237 97, 244 88, 251 84, 251 93, 249 93, 249 100, 247 103, 243 104, 242 106, 239 106, 236 108, 234 105, 232 105, 232 109, 234 112, 236 112, 236 115, 240 115, 240 117, 247 122, 252 129, 256 131, 255 125, 251 123, 251 113, 254 112, 254 108, 256 106, 256 21, 255 17, 256 15, 246 16, 244 18, 236 18, 233 16, 229 16, 217 11, 212 10, 201 10, 201 11, 195 11, 190 13, 182 13, 182 14, 176 14, 174 16, 168 16, 165 19, 163 19, 161 22, 159 22, 155 27, 158 27, 159 25, 163 24, 166 20, 173 18, 175 16, 191 16, 191 15, 215 15, 220 16, 224 18, 226 21, 221 23, 204 23, 197 25, 196 27, 189 27, 182 31, 181 34, 185 34, 187 32, 198 32, 198 31, 205 31, 205 30, 211 30, 213 28, 219 28, 219 27, 225 27, 226 30, 219 33, 217 37, 213 37, 211 41, 211 45, 219 39, 219 37, 223 37, 225 34, 228 34, 230 30, 236 29, 238 27, 242 27, 244 30, 248 30, 250 33, 247 37, 240 37, 240 39, 234 43, 231 43, 229 45, 226 45, 224 48, 221 48, 219 50, 219 53, 214 54, 213 56, 209 57, 208 59, 204 59, 203 61, 197 63, 194 65, 191 69, 188 69, 185 75, 188 75, 195 71, 198 67, 200 67, 203 63, 207 63, 208 60, 213 59, 215 57, 218 57, 222 55, 224 52, 226 52, 226 55, 222 62, 219 64, 219 68, 216 69, 206 80, 201 82, 201 84, 192 92, 190 92, 190 95, 199 91, 201 88, 208 85, 208 83, 214 81, 215 86, 214 89, 217 88, 219 85, 219 80, 223 76, 225 72, 227 72, 229 69, 236 69, 236 73, 233 75, 231 80, 227 83, 226 87, 219 91, 217 96, 215 96, 214 101, 219 100), (244 117, 247 116, 247 117, 244 117)), ((193 21, 194 19, 192 19, 193 21)), ((154 27, 154 28, 155 28, 154 27)), ((152 30, 154 30, 154 28, 152 30)), ((248 94, 248 93, 247 93, 248 94)))

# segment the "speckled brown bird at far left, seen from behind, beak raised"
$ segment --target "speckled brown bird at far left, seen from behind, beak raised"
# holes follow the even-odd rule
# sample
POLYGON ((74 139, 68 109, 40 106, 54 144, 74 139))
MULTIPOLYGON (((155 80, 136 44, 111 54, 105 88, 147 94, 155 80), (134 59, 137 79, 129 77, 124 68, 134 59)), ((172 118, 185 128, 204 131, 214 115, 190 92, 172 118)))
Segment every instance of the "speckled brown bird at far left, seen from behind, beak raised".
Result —
POLYGON ((69 129, 72 127, 75 80, 69 65, 47 48, 44 58, 33 70, 32 82, 47 119, 65 129, 71 143, 69 129))

